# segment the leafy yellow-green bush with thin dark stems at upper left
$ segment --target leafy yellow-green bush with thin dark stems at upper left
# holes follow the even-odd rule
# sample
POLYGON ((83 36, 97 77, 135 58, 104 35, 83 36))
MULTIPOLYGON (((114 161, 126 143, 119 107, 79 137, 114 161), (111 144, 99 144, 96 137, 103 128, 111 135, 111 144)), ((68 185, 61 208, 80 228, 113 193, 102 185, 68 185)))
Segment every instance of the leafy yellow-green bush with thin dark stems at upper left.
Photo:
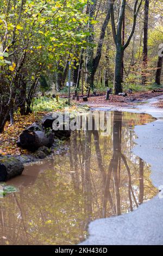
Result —
MULTIPOLYGON (((26 101, 23 113, 27 106, 30 108, 40 75, 53 81, 54 71, 65 65, 67 56, 72 63, 77 60, 77 53, 87 45, 86 3, 0 0, 0 112, 7 113, 6 117, 13 102, 17 108, 26 101)), ((42 92, 47 85, 41 81, 42 92)), ((51 109, 50 102, 48 105, 51 109)), ((0 131, 6 121, 0 119, 0 131)))

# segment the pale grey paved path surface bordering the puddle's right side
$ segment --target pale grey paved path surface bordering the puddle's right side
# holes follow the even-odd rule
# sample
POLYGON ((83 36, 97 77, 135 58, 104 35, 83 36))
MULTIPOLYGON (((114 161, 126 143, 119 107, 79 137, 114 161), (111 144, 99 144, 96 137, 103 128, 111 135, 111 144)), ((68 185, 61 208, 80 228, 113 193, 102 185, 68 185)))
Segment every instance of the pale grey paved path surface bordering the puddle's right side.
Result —
MULTIPOLYGON (((144 105, 125 108, 128 112, 148 113, 157 118, 153 123, 135 127, 138 138, 133 150, 137 156, 151 164, 151 179, 157 188, 163 185, 163 111, 154 105, 162 98, 159 96, 144 105)), ((160 193, 129 214, 91 222, 89 237, 81 244, 163 245, 163 199, 160 193)))

